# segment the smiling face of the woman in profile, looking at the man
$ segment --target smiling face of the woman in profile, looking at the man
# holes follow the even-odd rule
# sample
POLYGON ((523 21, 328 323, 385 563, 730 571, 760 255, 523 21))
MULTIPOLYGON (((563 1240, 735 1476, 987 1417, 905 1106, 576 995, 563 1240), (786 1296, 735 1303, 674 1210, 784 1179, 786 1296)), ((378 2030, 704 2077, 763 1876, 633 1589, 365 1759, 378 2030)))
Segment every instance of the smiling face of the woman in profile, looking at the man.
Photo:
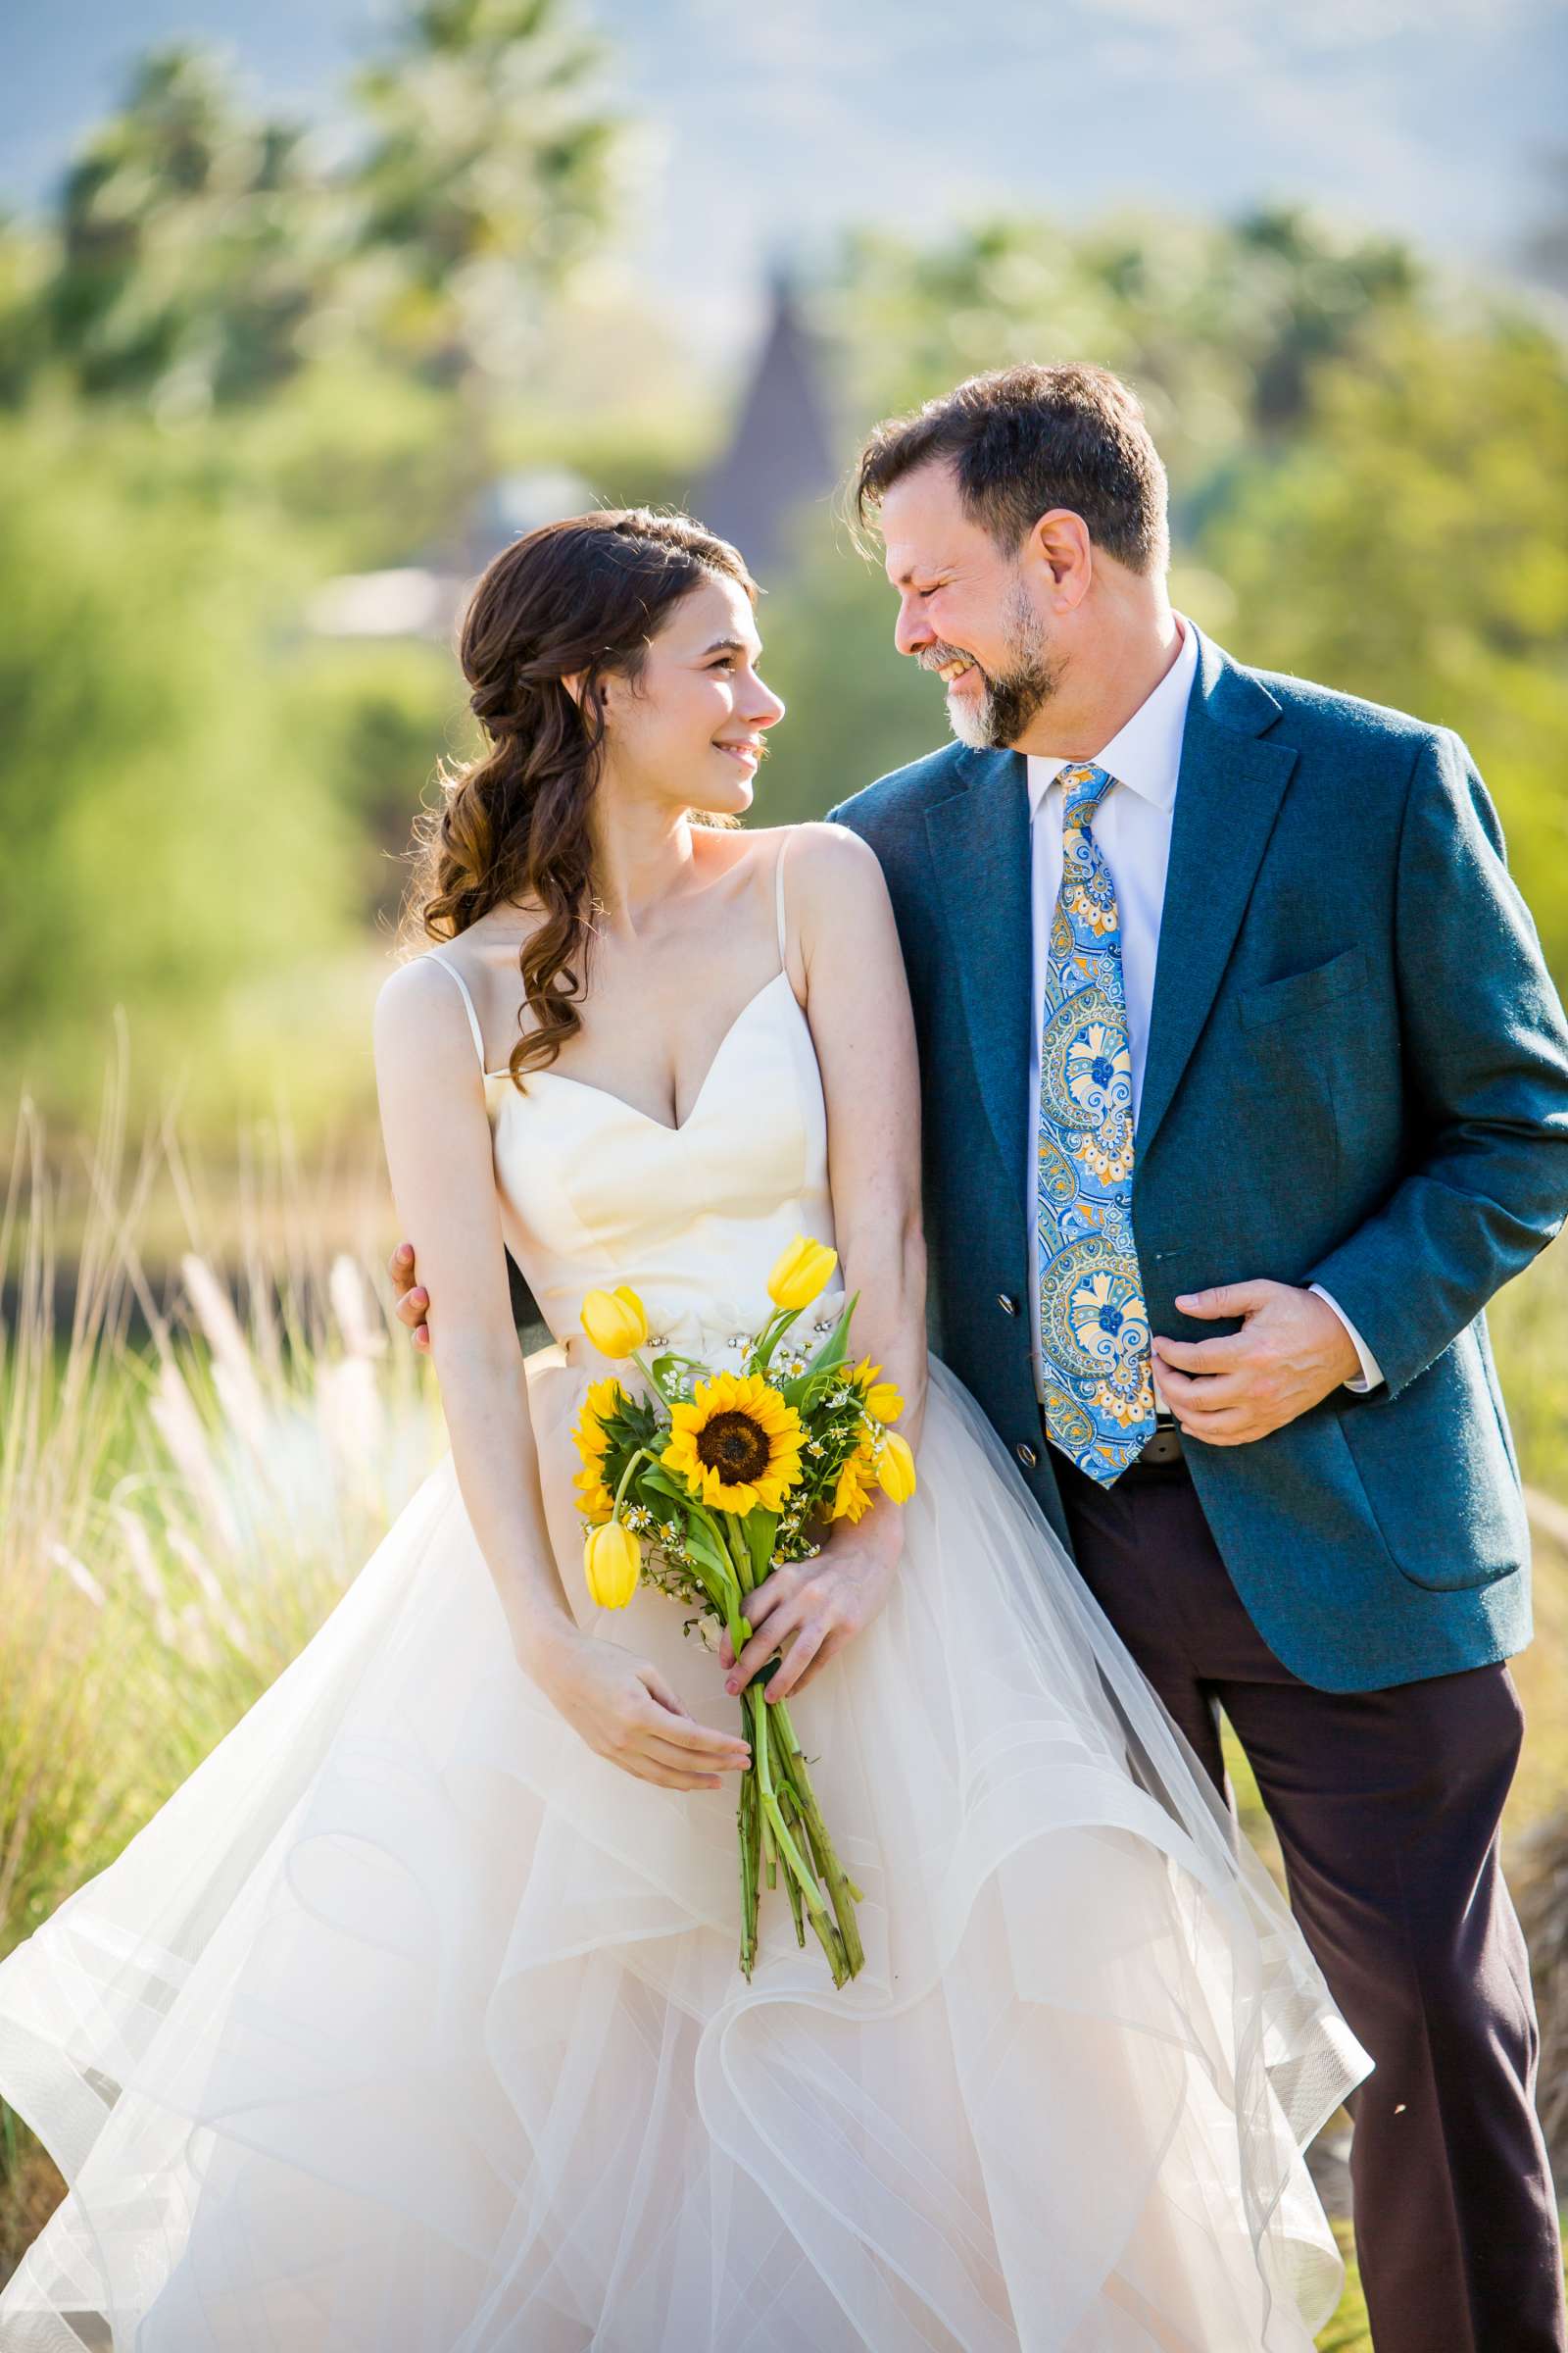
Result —
POLYGON ((649 640, 637 682, 609 682, 604 741, 616 776, 712 816, 750 809, 766 729, 783 718, 757 675, 759 656, 743 588, 712 579, 684 595, 649 640))

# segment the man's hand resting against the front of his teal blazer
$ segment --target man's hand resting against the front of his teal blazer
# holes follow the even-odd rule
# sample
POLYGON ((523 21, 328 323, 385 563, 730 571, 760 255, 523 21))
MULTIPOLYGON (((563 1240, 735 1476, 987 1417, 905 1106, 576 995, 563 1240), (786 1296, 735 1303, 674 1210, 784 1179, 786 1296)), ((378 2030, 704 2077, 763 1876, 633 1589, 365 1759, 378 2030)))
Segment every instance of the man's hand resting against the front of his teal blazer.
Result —
POLYGON ((1154 1339, 1154 1388, 1190 1438, 1244 1447, 1295 1421, 1361 1360, 1349 1332, 1316 1292, 1291 1282, 1220 1282, 1182 1292, 1182 1315, 1241 1315, 1225 1339, 1154 1339))

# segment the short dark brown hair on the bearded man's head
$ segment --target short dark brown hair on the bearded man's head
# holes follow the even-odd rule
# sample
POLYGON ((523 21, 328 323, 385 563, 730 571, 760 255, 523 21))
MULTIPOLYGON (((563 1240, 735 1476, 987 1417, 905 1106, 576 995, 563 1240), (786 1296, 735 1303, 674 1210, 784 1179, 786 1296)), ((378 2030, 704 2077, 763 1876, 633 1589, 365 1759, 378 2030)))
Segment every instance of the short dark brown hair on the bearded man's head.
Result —
POLYGON ((1131 572, 1171 562, 1166 468, 1138 395, 1107 367, 994 367, 879 424, 853 482, 860 522, 900 475, 936 459, 952 466, 969 518, 1009 555, 1044 513, 1070 506, 1131 572))

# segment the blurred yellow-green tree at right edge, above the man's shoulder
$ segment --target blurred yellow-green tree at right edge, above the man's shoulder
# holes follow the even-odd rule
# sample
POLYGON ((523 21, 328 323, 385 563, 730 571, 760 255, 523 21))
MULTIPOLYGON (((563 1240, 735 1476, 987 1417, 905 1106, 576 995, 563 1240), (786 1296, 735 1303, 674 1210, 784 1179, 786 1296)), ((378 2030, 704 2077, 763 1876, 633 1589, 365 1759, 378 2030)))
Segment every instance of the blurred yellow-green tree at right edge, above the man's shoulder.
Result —
POLYGON ((1542 325, 1392 318, 1208 515, 1225 635, 1455 727, 1568 981, 1568 358, 1542 325))

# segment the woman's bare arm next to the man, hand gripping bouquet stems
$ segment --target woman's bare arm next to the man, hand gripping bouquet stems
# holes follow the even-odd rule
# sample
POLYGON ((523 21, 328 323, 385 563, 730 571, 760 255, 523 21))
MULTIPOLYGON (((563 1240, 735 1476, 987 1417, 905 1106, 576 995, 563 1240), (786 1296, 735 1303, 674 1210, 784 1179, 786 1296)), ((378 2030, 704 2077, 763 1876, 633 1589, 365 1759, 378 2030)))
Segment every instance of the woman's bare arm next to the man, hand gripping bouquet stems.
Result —
MULTIPOLYGON (((806 974, 806 1014, 827 1101, 827 1179, 844 1289, 858 1292, 856 1355, 903 1391, 900 1433, 926 1409, 926 1245, 919 1219, 919 1054, 893 908, 877 854, 844 826, 802 826, 785 892, 806 974)), ((755 1626, 726 1687, 783 1647, 769 1697, 788 1699, 882 1607, 903 1515, 879 1499, 839 1522, 816 1560, 776 1569, 748 1602, 755 1626), (788 1647, 785 1647, 788 1642, 788 1647)))

